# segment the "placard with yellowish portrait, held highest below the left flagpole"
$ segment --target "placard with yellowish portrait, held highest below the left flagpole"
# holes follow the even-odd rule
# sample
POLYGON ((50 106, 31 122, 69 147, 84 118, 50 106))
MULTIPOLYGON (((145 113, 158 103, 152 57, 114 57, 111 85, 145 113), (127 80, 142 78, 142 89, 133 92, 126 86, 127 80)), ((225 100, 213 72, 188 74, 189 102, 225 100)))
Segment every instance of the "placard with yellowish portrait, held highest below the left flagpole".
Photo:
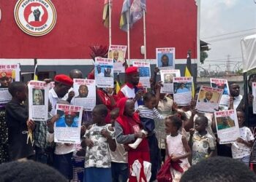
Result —
POLYGON ((113 69, 115 73, 124 73, 124 58, 127 52, 127 46, 110 45, 108 49, 108 58, 113 59, 113 69))

